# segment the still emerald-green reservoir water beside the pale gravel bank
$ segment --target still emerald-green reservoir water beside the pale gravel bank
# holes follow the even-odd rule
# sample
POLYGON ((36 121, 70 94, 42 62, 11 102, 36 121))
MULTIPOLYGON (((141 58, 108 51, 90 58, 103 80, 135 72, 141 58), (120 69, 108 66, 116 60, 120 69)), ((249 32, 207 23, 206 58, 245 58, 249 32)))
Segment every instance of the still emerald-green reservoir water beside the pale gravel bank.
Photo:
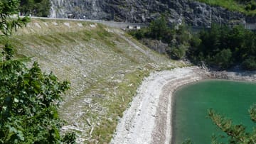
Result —
POLYGON ((252 131, 256 125, 250 121, 248 109, 254 103, 255 83, 204 80, 181 87, 174 94, 173 142, 181 144, 189 138, 193 143, 206 144, 213 133, 223 134, 206 118, 210 108, 252 131))

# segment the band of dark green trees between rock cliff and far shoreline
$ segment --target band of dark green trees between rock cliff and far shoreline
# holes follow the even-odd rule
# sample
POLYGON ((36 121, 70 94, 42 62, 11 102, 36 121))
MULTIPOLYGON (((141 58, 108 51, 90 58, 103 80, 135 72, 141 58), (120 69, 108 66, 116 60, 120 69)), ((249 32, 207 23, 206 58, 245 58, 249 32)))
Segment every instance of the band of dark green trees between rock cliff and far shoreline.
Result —
POLYGON ((137 39, 151 38, 168 43, 171 58, 187 57, 191 62, 205 62, 210 67, 226 69, 236 65, 245 70, 256 70, 256 33, 242 26, 230 28, 213 24, 210 30, 198 34, 186 26, 170 28, 164 17, 153 21, 149 28, 132 31, 137 39))

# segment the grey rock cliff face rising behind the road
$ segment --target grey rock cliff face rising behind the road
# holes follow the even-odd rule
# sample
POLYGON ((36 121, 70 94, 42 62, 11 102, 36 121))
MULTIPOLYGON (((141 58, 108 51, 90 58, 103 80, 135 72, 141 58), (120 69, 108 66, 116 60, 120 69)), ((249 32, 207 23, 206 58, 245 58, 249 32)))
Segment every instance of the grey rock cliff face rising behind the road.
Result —
POLYGON ((210 26, 210 23, 245 23, 245 16, 192 0, 52 0, 51 17, 149 23, 165 13, 169 23, 210 26))

